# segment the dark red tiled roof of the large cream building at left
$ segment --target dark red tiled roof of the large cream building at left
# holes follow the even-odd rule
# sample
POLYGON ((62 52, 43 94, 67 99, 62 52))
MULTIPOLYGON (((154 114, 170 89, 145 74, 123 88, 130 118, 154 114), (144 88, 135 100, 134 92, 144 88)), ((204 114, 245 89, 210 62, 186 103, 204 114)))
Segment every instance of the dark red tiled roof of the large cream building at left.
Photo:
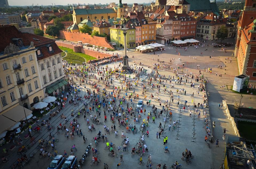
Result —
MULTIPOLYGON (((62 51, 60 48, 58 48, 57 44, 55 43, 55 40, 45 38, 42 36, 30 34, 27 32, 20 32, 17 30, 15 26, 11 25, 0 25, 0 34, 2 35, 2 42, 0 44, 0 52, 3 52, 6 46, 9 46, 10 43, 15 44, 15 41, 13 41, 13 38, 20 38, 23 42, 23 47, 29 47, 30 42, 34 42, 34 46, 36 48, 40 48, 42 57, 38 57, 38 60, 44 59, 46 57, 50 57, 53 55, 56 55, 58 53, 61 53, 62 51), (52 53, 48 52, 47 45, 51 44, 53 51, 52 53)), ((21 47, 22 48, 22 47, 21 47)))

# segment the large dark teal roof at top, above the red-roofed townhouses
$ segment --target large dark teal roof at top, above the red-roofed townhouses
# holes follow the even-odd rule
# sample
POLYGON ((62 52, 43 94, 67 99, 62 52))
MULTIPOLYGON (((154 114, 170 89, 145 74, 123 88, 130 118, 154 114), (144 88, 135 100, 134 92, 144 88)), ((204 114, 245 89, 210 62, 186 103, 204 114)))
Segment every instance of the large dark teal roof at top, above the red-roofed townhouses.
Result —
POLYGON ((216 2, 210 0, 186 0, 190 3, 190 11, 213 11, 219 12, 216 2))

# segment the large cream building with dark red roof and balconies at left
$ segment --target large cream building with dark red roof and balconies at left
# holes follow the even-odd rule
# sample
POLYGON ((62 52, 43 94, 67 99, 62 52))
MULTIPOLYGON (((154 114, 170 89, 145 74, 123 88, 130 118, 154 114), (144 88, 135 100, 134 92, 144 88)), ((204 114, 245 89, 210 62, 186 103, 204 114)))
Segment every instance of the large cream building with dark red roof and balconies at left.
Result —
POLYGON ((65 75, 60 56, 62 51, 54 40, 20 32, 10 25, 0 26, 0 32, 5 32, 0 45, 1 134, 5 130, 15 129, 19 126, 19 121, 26 119, 22 106, 27 118, 31 118, 32 112, 29 109, 48 94, 52 94, 49 91, 54 81, 58 79, 60 84, 65 84, 61 79, 65 75), (42 67, 43 60, 47 65, 48 59, 52 66, 42 67), (42 63, 39 63, 40 60, 42 63), (54 79, 47 78, 45 81, 44 72, 54 79))

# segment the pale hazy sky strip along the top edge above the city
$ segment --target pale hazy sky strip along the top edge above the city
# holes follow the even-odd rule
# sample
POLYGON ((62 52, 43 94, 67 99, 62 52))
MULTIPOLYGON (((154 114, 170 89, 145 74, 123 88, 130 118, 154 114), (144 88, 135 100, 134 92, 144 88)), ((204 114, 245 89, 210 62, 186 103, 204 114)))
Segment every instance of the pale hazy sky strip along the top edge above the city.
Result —
MULTIPOLYGON (((152 2, 153 0, 151 0, 151 2, 152 2)), ((101 4, 106 4, 106 3, 109 3, 109 2, 116 2, 116 3, 119 3, 119 0, 110 0, 109 2, 108 1, 103 1, 103 0, 93 0, 93 1, 79 1, 79 0, 44 0, 44 1, 42 1, 42 0, 33 0, 33 1, 25 1, 25 0, 8 0, 8 2, 9 2, 9 5, 11 5, 11 6, 15 6, 15 5, 17 5, 17 6, 25 6, 25 5, 32 5, 32 3, 34 3, 34 5, 52 5, 52 3, 53 3, 53 5, 54 5, 54 3, 56 4, 56 5, 67 5, 68 3, 69 4, 72 4, 72 3, 76 3, 76 4, 78 4, 78 2, 79 3, 81 3, 81 4, 87 4, 87 3, 90 3, 90 4, 93 4, 94 2, 96 3, 96 4, 98 4, 98 3, 101 3, 101 4)), ((136 1, 128 1, 128 0, 122 0, 122 3, 143 3, 143 2, 145 2, 145 3, 149 3, 149 0, 136 0, 136 1)))

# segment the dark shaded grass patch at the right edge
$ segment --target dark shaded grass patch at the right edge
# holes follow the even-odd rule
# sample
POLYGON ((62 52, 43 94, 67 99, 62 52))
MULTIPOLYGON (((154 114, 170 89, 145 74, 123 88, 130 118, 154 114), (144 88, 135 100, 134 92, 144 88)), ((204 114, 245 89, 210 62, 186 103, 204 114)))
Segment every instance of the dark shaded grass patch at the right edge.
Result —
POLYGON ((256 141, 256 123, 247 121, 238 121, 238 130, 241 137, 256 141))

